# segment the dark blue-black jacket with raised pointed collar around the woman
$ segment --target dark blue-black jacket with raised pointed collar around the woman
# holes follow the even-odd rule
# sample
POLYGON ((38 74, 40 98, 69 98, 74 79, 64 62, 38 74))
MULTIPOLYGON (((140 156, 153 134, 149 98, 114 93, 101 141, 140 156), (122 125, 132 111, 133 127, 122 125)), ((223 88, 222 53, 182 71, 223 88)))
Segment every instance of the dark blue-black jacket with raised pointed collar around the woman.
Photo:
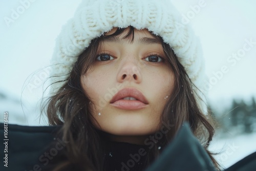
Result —
MULTIPOLYGON (((0 145, 0 158, 4 161, 1 162, 0 170, 39 171, 68 143, 55 138, 59 126, 8 124, 7 137, 4 137, 6 131, 4 130, 4 124, 0 123, 0 127, 1 137, 6 139, 0 145), (49 151, 48 145, 52 141, 56 141, 56 146, 49 151)), ((123 168, 123 170, 129 169, 127 166, 123 168)), ((155 170, 211 171, 216 169, 205 149, 191 133, 186 123, 181 127, 172 143, 164 149, 160 157, 146 169, 146 171, 155 170)), ((249 155, 226 170, 256 170, 256 153, 249 155)))

